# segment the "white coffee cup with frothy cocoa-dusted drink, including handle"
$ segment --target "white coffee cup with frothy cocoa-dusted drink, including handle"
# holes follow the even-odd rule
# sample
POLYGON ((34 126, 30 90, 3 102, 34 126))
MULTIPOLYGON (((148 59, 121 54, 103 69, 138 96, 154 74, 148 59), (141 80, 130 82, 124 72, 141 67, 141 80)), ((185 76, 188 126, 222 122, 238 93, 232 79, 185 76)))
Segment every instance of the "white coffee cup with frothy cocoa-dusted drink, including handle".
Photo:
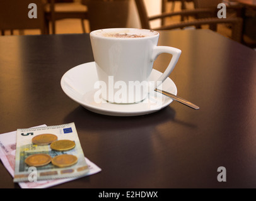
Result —
POLYGON ((150 91, 170 75, 181 50, 157 46, 159 33, 136 28, 110 28, 90 33, 101 98, 112 103, 131 104, 144 100, 150 91), (165 72, 153 83, 148 82, 153 62, 161 53, 170 53, 165 72))

